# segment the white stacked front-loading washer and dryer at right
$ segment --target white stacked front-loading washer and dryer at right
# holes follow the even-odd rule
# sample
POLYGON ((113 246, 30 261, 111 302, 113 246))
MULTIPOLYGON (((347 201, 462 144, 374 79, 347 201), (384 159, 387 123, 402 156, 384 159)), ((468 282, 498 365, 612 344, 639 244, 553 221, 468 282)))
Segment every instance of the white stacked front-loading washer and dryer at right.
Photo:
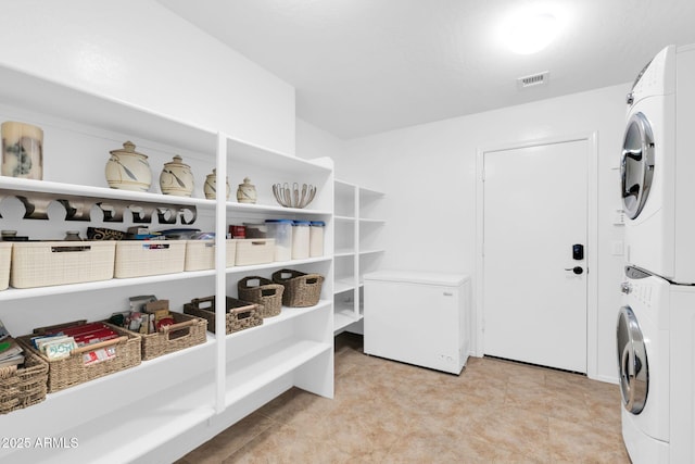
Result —
POLYGON ((695 46, 661 50, 628 95, 621 183, 622 436, 640 463, 695 462, 695 46))

